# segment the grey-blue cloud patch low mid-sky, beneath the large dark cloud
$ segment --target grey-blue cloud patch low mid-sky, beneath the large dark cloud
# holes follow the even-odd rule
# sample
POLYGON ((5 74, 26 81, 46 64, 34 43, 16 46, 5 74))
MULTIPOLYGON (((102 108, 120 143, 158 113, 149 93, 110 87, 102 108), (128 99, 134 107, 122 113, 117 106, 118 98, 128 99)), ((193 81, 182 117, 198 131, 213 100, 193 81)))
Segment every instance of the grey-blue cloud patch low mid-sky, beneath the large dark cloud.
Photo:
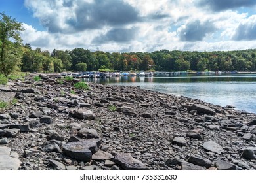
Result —
POLYGON ((136 30, 133 29, 111 29, 104 35, 95 37, 93 43, 101 44, 105 42, 131 42, 135 37, 136 30))

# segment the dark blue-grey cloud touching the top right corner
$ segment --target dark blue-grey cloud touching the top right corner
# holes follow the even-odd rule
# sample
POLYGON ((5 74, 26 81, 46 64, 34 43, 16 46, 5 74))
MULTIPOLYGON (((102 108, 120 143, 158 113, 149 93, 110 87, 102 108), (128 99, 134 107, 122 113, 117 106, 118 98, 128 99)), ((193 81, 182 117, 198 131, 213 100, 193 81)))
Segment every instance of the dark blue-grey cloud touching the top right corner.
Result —
POLYGON ((239 7, 251 7, 256 5, 255 0, 200 0, 201 7, 209 7, 213 11, 222 11, 239 7))

